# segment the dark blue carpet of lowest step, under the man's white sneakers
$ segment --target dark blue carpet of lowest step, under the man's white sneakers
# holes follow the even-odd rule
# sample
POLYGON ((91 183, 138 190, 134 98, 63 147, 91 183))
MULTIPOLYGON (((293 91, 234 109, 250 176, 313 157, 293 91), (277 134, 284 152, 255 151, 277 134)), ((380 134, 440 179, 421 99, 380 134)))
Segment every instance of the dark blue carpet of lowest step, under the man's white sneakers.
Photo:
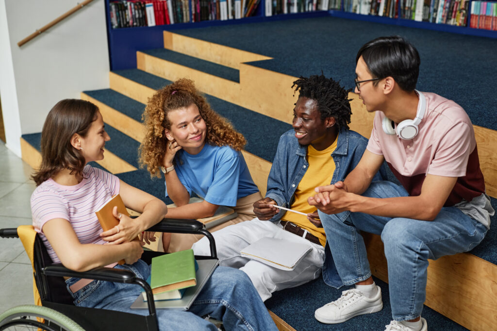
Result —
MULTIPOLYGON (((337 290, 326 285, 322 276, 307 284, 275 292, 270 299, 266 300, 265 304, 270 311, 278 315, 278 317, 298 331, 384 330, 385 326, 392 320, 388 284, 378 278, 375 278, 374 280, 376 284, 381 287, 383 310, 374 314, 357 316, 339 324, 323 324, 314 318, 316 309, 324 306, 330 301, 336 300, 340 297, 341 292, 347 289, 344 287, 337 290)), ((426 319, 428 330, 467 330, 426 306, 423 307, 421 316, 426 319)))

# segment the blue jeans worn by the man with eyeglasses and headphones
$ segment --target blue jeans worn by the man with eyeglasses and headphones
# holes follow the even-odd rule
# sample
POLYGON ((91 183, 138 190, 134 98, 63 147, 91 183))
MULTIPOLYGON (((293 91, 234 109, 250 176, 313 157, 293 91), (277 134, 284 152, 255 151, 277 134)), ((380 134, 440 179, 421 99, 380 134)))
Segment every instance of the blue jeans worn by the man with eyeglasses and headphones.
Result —
MULTIPOLYGON (((373 182, 363 196, 407 197, 402 186, 373 182)), ((392 316, 396 321, 421 315, 426 296, 428 259, 436 260, 472 250, 487 228, 456 207, 443 207, 433 221, 390 218, 344 211, 328 215, 319 211, 331 254, 344 285, 371 276, 364 240, 359 231, 381 235, 388 261, 392 316)))

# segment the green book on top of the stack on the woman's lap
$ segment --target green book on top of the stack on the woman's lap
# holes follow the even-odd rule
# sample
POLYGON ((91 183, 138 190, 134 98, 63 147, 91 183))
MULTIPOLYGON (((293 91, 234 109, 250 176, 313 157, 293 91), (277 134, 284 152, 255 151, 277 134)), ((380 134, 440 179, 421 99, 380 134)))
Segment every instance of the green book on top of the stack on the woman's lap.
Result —
POLYGON ((152 259, 150 287, 154 294, 195 286, 193 250, 185 250, 152 259))

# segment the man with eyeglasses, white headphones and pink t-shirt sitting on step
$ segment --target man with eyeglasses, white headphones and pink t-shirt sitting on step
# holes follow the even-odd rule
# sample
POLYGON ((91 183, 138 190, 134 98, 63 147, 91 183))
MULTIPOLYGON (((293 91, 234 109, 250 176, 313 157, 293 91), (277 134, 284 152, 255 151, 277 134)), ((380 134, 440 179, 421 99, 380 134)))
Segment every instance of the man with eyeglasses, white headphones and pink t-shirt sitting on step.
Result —
POLYGON ((356 88, 373 131, 359 164, 309 199, 329 238, 341 285, 355 287, 316 310, 341 323, 382 309, 359 231, 381 235, 393 321, 386 330, 427 330, 421 310, 428 259, 473 249, 494 210, 485 194, 473 126, 451 100, 415 90, 417 50, 398 36, 366 43, 356 57, 356 88), (402 186, 373 182, 386 160, 402 186), (371 185, 370 185, 371 184, 371 185))

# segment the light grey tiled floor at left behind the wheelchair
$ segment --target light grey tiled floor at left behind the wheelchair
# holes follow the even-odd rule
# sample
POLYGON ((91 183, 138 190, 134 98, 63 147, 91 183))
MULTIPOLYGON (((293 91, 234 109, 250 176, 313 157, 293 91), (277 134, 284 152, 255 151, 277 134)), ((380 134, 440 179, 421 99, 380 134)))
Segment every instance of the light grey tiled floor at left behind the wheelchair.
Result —
MULTIPOLYGON (((31 224, 32 169, 0 141, 0 228, 31 224)), ((0 313, 33 304, 32 268, 19 239, 0 238, 0 313)))

